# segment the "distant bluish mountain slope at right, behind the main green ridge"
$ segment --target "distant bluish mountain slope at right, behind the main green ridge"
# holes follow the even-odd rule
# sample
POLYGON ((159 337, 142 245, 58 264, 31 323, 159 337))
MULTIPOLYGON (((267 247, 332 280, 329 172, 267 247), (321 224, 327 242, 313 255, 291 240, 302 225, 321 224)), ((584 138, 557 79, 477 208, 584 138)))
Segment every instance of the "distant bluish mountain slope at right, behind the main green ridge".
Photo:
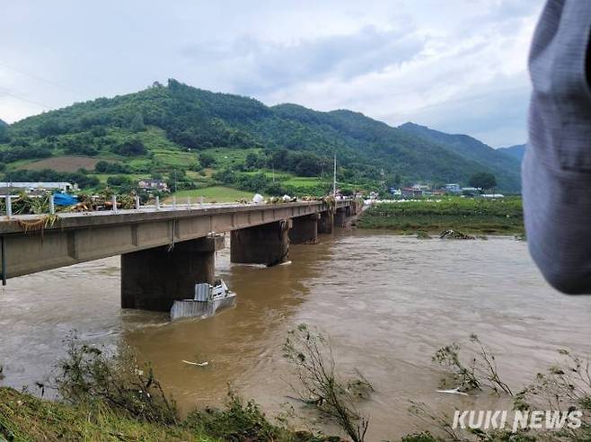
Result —
POLYGON ((504 189, 520 187, 520 161, 503 155, 497 149, 485 145, 476 138, 461 134, 446 134, 414 123, 405 123, 399 128, 480 164, 483 169, 496 175, 499 187, 504 189))

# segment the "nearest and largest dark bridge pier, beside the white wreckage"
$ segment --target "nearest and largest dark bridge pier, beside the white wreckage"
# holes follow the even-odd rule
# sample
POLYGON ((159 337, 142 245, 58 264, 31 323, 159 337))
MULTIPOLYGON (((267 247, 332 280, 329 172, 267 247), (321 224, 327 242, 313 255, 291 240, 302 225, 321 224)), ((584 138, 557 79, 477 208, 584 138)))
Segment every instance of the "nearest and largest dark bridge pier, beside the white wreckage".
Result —
POLYGON ((195 284, 215 280, 216 251, 224 237, 205 237, 121 255, 121 307, 165 312, 192 298, 195 284))

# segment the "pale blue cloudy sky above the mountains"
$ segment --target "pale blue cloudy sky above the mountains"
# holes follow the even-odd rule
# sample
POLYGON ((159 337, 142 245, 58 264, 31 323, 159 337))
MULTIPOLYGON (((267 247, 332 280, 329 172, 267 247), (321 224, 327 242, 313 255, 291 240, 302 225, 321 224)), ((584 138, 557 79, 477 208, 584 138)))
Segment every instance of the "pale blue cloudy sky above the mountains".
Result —
POLYGON ((1 0, 0 119, 176 78, 525 142, 542 0, 1 0))

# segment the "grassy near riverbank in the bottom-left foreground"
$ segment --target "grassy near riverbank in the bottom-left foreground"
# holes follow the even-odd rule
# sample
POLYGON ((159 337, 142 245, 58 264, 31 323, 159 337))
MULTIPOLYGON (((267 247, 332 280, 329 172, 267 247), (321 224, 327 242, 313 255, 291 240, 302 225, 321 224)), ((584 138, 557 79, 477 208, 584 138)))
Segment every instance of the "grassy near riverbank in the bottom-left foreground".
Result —
POLYGON ((176 424, 134 419, 106 404, 67 405, 0 387, 0 441, 142 440, 223 441, 275 440, 322 442, 342 439, 275 426, 252 402, 232 398, 225 409, 193 411, 176 424))

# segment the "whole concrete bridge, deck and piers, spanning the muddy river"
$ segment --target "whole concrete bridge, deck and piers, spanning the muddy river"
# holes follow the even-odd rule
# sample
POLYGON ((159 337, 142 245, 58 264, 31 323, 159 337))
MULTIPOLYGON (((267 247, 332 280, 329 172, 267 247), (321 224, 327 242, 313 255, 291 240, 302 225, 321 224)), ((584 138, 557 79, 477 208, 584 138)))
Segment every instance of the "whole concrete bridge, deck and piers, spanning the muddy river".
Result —
MULTIPOLYGON (((2 278, 121 255, 121 306, 166 311, 213 283, 215 252, 231 232, 231 261, 275 265, 289 243, 314 243, 360 207, 354 200, 203 204, 0 218, 2 278)), ((81 284, 84 290, 84 284, 81 284)))

